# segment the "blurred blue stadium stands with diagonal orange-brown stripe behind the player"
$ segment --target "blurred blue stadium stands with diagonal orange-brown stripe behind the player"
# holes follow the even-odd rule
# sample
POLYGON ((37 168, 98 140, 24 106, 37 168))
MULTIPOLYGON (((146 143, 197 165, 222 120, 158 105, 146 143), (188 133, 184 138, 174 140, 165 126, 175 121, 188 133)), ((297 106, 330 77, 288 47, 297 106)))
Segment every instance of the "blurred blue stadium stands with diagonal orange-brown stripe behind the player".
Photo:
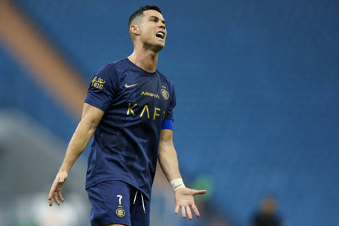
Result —
POLYGON ((174 142, 201 219, 174 215, 161 173, 152 225, 246 225, 275 194, 289 226, 339 224, 339 1, 0 1, 0 225, 89 225, 84 151, 47 195, 98 68, 129 55, 155 4, 176 86, 174 142))

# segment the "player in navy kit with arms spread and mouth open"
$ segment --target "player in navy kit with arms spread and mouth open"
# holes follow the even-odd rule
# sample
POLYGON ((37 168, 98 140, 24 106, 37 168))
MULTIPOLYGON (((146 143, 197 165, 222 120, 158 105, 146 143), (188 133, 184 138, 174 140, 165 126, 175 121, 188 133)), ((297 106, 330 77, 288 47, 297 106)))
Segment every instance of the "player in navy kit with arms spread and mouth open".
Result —
POLYGON ((175 214, 181 208, 192 220, 199 211, 178 169, 172 142, 176 104, 170 79, 156 70, 165 46, 166 21, 156 6, 144 6, 129 18, 134 52, 106 64, 95 74, 86 95, 82 119, 71 138, 48 196, 57 205, 62 185, 75 160, 94 134, 86 175, 91 225, 149 225, 151 187, 159 160, 174 190, 175 214))

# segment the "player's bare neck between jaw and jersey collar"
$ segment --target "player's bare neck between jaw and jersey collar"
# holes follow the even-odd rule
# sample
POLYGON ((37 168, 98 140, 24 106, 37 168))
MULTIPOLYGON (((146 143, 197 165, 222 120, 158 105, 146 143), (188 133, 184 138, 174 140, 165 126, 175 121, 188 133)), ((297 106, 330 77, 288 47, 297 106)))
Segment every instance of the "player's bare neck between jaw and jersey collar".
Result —
POLYGON ((158 52, 146 50, 145 48, 134 47, 133 53, 127 57, 133 64, 143 68, 150 73, 156 71, 156 64, 158 64, 158 52))

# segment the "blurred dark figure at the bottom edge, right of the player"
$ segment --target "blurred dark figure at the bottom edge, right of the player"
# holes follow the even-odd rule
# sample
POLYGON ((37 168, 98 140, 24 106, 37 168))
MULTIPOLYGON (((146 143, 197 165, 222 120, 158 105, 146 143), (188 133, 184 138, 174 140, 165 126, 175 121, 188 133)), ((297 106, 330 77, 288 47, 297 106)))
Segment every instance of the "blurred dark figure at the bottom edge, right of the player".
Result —
POLYGON ((282 219, 277 214, 277 200, 274 196, 266 196, 262 207, 252 218, 253 226, 280 226, 282 219))

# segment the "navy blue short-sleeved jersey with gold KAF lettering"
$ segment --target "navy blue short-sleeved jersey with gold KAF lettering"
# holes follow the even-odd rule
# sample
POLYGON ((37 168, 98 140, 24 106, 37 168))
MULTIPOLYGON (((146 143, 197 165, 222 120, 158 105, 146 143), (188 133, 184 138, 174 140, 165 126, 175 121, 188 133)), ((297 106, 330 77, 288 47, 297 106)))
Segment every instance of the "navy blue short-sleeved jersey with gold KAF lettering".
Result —
POLYGON ((94 133, 86 188, 122 180, 150 198, 161 123, 174 119, 176 98, 170 79, 121 59, 98 70, 85 102, 104 111, 94 133))

